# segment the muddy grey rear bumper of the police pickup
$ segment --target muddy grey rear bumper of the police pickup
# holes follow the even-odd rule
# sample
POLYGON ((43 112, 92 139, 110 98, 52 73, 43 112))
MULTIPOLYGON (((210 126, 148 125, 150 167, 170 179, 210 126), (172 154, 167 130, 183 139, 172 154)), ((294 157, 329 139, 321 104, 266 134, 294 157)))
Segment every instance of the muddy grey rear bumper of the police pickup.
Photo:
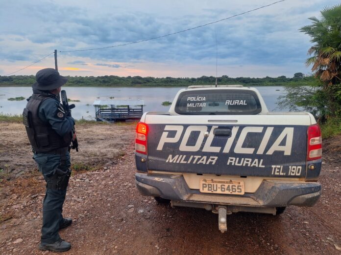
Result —
POLYGON ((252 207, 313 206, 321 195, 317 182, 265 180, 255 193, 244 195, 205 194, 188 188, 181 174, 136 173, 136 187, 146 196, 173 201, 252 207))

